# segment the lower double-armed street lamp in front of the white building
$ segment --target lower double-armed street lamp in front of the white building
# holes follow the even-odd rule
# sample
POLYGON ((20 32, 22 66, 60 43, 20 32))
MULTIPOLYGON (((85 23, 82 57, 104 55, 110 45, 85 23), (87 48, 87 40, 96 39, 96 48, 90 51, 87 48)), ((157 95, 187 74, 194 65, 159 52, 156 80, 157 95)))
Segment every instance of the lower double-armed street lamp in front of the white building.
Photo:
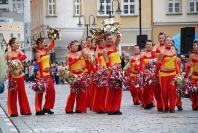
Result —
POLYGON ((87 27, 87 36, 89 36, 89 27, 92 25, 93 27, 96 26, 96 19, 95 19, 95 16, 94 15, 89 15, 89 22, 87 23, 86 21, 86 16, 85 15, 80 15, 79 16, 79 22, 78 22, 78 26, 81 27, 83 24, 81 22, 81 17, 84 18, 84 25, 87 27), (91 17, 93 18, 93 23, 91 24, 91 17))

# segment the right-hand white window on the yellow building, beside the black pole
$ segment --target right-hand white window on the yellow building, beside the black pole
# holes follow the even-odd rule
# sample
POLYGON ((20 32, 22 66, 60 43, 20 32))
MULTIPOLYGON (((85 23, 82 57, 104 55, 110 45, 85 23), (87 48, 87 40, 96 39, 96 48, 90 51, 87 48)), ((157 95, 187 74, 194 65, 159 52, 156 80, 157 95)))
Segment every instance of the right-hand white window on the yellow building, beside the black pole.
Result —
POLYGON ((136 0, 123 0, 123 15, 134 15, 135 14, 135 1, 136 0))

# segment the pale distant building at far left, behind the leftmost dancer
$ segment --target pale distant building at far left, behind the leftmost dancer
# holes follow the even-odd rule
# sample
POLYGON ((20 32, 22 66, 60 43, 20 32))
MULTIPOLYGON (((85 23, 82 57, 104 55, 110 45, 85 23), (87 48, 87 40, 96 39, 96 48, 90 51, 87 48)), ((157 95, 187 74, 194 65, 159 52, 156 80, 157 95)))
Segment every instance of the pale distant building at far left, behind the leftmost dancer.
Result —
POLYGON ((23 24, 23 0, 0 0, 0 33, 6 42, 16 37, 24 46, 23 24))

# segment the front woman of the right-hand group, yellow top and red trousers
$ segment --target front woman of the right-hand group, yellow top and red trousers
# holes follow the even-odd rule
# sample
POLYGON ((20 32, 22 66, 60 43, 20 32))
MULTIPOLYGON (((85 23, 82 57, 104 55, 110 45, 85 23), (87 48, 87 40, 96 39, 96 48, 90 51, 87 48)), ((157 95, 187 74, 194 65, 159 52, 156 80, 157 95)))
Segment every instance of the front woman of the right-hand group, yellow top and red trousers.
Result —
POLYGON ((163 111, 167 112, 170 109, 170 113, 174 113, 177 94, 173 81, 176 74, 180 73, 180 70, 178 69, 176 51, 172 48, 170 37, 166 37, 165 39, 165 49, 159 55, 158 68, 160 68, 159 79, 163 111))

